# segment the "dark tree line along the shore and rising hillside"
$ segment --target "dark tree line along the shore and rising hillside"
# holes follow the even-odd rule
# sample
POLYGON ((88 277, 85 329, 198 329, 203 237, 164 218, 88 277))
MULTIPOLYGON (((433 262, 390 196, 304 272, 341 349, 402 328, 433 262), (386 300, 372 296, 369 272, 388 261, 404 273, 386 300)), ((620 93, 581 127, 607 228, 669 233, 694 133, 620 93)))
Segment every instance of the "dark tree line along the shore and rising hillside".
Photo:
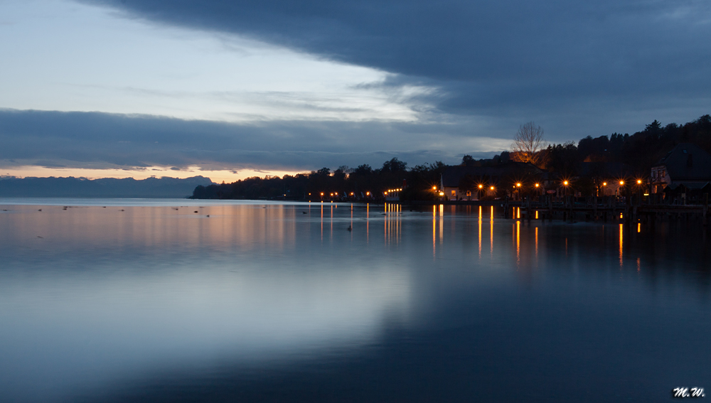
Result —
MULTIPOLYGON (((538 134, 533 125, 522 126, 531 134, 538 134)), ((542 137, 542 130, 540 131, 542 137)), ((518 137, 518 135, 517 135, 518 137)), ((535 136, 533 141, 538 141, 535 136)), ((464 166, 497 166, 508 161, 533 163, 544 171, 560 177, 574 177, 582 173, 585 162, 624 163, 640 175, 648 175, 651 166, 679 143, 695 143, 711 153, 711 117, 708 114, 683 125, 671 123, 662 126, 654 120, 634 134, 613 133, 593 138, 587 136, 577 144, 573 141, 526 149, 514 144, 511 152, 503 151, 493 158, 476 160, 465 155, 464 166), (528 154, 527 154, 528 153, 528 154)), ((192 198, 198 199, 283 199, 283 200, 383 200, 384 192, 402 189, 401 200, 437 200, 432 191, 447 168, 442 161, 424 163, 412 168, 407 162, 392 158, 380 168, 363 164, 357 168, 339 166, 335 171, 321 168, 294 176, 266 176, 245 178, 234 183, 198 186, 192 198), (323 194, 322 194, 323 193, 323 194)), ((585 178, 580 182, 584 186, 585 178)))

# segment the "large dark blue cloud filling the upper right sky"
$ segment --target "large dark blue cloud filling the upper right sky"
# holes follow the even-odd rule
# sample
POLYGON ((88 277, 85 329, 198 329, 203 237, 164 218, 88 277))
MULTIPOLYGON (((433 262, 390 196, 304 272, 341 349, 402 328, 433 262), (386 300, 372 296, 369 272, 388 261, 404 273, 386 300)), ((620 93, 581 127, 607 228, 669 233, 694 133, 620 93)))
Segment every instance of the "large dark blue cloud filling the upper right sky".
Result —
POLYGON ((693 119, 711 90, 706 1, 90 2, 391 72, 439 88, 430 97, 447 114, 559 124, 624 110, 646 122, 682 107, 693 119))

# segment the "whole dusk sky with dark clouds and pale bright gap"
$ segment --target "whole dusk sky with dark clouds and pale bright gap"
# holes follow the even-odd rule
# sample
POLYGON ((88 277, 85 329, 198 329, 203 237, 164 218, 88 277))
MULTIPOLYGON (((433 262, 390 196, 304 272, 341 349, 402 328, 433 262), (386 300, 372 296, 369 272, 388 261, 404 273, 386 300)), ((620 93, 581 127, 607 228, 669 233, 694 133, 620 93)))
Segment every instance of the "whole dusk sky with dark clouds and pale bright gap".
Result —
POLYGON ((711 112, 711 3, 0 0, 0 175, 458 163, 711 112))

